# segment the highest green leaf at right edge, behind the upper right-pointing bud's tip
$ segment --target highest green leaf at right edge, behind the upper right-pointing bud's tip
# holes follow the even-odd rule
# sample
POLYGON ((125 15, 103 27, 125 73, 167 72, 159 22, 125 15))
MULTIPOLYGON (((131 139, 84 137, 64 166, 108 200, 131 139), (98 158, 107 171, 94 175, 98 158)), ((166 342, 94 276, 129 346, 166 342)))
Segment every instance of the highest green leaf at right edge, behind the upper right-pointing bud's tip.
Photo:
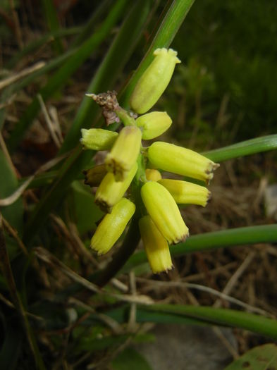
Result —
POLYGON ((237 144, 202 154, 212 161, 223 162, 228 159, 238 158, 239 156, 249 156, 250 154, 268 152, 273 149, 277 149, 277 135, 256 137, 255 139, 238 142, 237 144))

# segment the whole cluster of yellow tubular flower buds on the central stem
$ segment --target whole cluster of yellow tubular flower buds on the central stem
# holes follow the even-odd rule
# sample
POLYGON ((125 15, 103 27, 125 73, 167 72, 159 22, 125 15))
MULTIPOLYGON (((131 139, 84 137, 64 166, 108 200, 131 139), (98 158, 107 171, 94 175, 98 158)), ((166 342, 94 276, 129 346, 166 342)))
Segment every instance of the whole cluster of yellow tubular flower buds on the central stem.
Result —
MULTIPOLYGON (((190 149, 167 142, 142 146, 142 140, 152 140, 171 126, 171 118, 166 112, 147 111, 163 94, 176 63, 180 63, 176 51, 156 49, 152 63, 130 97, 133 112, 122 109, 117 101, 112 107, 109 100, 109 118, 116 113, 124 127, 118 133, 82 129, 81 138, 85 149, 109 151, 104 164, 85 173, 85 183, 98 187, 95 202, 106 212, 92 237, 92 249, 99 254, 108 252, 120 238, 137 206, 140 234, 154 273, 172 268, 168 245, 184 241, 189 235, 178 204, 206 206, 210 197, 207 187, 162 178, 161 171, 209 183, 219 166, 190 149), (125 194, 131 184, 128 199, 125 194)), ((101 100, 101 106, 104 106, 103 96, 101 99, 94 94, 90 96, 95 101, 101 100)), ((113 100, 114 96, 113 92, 113 100)))

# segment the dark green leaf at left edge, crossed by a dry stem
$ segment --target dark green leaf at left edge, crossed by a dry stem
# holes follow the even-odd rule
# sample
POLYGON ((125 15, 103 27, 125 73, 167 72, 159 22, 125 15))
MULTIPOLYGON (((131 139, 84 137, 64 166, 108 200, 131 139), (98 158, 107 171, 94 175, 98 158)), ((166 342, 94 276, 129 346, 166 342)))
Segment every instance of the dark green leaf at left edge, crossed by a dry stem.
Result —
MULTIPOLYGON (((0 150, 0 199, 8 197, 18 188, 18 179, 0 150)), ((19 198, 10 206, 0 207, 1 214, 15 228, 19 235, 23 232, 23 199, 19 198)))

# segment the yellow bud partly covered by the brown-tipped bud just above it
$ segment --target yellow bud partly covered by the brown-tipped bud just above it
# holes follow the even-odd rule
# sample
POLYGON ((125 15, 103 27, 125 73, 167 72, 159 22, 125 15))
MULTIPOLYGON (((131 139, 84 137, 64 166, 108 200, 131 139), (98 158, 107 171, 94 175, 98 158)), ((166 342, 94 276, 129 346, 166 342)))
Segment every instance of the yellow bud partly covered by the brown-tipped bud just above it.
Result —
POLYGON ((103 211, 111 211, 111 207, 119 202, 125 194, 136 172, 137 164, 135 163, 123 181, 116 181, 113 173, 107 173, 97 189, 95 203, 98 204, 103 211))

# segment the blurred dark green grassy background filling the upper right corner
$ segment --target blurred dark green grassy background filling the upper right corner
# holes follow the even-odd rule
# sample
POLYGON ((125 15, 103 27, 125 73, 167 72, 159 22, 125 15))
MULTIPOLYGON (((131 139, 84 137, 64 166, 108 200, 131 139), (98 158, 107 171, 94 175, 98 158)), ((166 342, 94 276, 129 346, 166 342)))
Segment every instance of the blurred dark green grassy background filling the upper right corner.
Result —
POLYGON ((217 145, 276 132, 276 34, 274 0, 196 1, 173 42, 184 63, 170 110, 185 140, 195 130, 217 145))

